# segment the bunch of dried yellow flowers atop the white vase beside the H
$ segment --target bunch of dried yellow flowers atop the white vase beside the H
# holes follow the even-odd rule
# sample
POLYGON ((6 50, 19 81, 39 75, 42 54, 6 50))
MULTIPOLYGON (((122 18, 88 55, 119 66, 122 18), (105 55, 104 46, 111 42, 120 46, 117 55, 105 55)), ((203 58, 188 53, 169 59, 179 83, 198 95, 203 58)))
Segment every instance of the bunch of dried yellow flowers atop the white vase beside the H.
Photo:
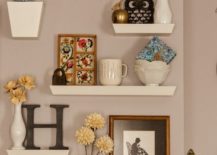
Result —
POLYGON ((4 87, 13 104, 20 104, 27 100, 27 90, 35 88, 35 81, 31 76, 23 75, 18 80, 8 81, 4 87))

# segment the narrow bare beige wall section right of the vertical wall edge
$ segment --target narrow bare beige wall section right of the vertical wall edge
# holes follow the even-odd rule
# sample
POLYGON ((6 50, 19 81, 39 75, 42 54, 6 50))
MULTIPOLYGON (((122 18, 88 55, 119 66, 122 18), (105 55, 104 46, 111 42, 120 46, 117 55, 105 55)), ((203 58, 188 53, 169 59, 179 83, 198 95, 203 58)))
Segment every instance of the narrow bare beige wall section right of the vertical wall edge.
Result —
POLYGON ((186 0, 185 147, 197 155, 217 154, 216 0, 186 0))

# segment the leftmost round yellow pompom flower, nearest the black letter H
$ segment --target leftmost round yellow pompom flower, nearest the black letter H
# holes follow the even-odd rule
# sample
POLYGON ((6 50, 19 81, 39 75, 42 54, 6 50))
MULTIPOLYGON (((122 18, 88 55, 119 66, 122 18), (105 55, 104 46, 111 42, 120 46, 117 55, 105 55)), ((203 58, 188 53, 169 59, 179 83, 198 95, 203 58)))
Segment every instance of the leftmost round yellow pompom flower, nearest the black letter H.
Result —
POLYGON ((75 137, 77 142, 82 145, 89 145, 95 140, 94 132, 87 127, 82 127, 76 131, 75 137))

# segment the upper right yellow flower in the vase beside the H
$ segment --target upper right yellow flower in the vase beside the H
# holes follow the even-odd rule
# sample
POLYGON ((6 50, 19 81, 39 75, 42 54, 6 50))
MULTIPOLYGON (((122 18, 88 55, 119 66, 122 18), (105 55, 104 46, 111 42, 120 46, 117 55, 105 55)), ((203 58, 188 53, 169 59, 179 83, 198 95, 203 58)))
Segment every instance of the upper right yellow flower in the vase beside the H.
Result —
POLYGON ((19 84, 21 86, 25 87, 28 90, 30 90, 30 89, 32 89, 32 88, 35 87, 35 81, 34 81, 34 79, 31 76, 28 76, 28 75, 21 76, 18 79, 18 82, 19 82, 19 84))

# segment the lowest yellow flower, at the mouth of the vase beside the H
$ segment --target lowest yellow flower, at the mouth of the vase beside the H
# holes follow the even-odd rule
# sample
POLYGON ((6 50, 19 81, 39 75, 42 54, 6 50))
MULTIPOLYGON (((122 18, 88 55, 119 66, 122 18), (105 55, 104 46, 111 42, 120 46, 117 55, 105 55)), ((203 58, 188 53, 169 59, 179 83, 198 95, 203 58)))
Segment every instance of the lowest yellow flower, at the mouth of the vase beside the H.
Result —
POLYGON ((11 102, 19 104, 26 101, 26 92, 22 88, 17 88, 10 92, 11 102))

